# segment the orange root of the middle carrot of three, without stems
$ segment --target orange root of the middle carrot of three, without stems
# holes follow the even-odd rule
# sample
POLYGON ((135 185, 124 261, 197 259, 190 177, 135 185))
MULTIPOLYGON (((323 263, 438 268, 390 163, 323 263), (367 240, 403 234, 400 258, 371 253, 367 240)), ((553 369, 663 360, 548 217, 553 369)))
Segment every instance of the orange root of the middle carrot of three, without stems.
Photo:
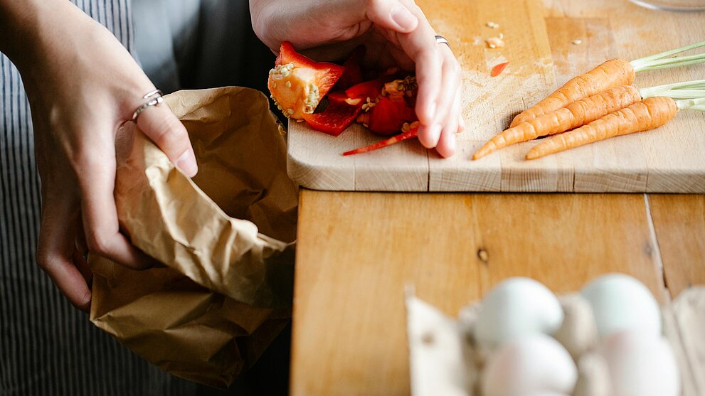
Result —
POLYGON ((632 85, 621 85, 620 87, 600 92, 597 95, 573 102, 562 109, 506 129, 501 134, 487 141, 472 156, 472 159, 480 159, 493 151, 520 141, 529 141, 537 137, 558 134, 569 129, 581 127, 603 117, 605 114, 616 112, 632 103, 639 102, 641 99, 639 90, 632 85))

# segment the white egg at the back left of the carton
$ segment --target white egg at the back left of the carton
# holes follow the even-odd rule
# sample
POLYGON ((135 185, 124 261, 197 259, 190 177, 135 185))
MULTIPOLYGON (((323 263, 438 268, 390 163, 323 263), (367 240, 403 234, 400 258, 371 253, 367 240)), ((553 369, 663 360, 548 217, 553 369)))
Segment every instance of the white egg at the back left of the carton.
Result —
POLYGON ((534 279, 514 277, 484 297, 477 313, 475 340, 492 350, 534 334, 552 334, 563 322, 556 295, 534 279))

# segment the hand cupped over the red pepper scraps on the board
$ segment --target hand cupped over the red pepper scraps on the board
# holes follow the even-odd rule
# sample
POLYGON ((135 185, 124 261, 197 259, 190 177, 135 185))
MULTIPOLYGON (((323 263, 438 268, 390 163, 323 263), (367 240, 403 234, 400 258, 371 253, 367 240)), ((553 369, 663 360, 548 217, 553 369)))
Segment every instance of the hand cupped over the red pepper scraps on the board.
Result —
POLYGON ((415 68, 418 139, 441 156, 455 152, 465 128, 460 109, 460 66, 413 0, 250 0, 253 28, 277 52, 282 41, 316 60, 344 58, 359 43, 378 68, 415 68))

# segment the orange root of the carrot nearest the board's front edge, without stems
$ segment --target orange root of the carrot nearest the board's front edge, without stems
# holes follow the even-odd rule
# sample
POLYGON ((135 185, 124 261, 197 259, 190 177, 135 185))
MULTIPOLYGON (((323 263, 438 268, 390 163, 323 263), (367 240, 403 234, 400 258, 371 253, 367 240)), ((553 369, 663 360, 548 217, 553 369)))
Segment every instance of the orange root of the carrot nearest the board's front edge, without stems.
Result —
POLYGON ((546 139, 529 150, 526 159, 537 159, 593 141, 661 127, 677 112, 676 102, 670 97, 650 97, 583 127, 546 139))

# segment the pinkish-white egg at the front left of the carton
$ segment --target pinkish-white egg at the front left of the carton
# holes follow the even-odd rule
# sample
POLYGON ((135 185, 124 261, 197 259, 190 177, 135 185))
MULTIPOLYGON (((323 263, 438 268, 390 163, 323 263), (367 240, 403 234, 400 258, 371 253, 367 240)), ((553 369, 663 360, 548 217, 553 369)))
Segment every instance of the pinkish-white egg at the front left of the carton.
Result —
POLYGON ((578 380, 571 355, 542 334, 499 348, 482 371, 483 396, 570 395, 578 380))

